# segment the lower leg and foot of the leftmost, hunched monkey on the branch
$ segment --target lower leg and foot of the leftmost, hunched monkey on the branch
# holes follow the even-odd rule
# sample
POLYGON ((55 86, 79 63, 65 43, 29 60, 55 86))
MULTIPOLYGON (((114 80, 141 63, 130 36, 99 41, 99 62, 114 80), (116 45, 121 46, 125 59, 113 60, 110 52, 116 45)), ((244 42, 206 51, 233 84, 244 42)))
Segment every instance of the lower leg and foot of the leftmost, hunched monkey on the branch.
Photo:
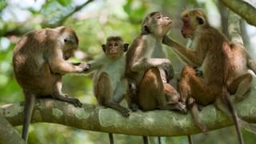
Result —
POLYGON ((64 101, 74 104, 74 106, 81 107, 82 103, 78 100, 78 98, 72 98, 67 94, 62 94, 62 79, 59 78, 58 81, 55 83, 54 92, 52 93, 53 97, 64 101))

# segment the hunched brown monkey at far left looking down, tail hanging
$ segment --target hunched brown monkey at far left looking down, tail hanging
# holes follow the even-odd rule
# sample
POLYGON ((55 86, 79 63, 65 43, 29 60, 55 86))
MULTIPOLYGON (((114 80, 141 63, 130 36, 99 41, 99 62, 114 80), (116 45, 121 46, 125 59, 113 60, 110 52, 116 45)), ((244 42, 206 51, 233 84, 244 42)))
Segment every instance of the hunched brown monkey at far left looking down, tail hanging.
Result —
POLYGON ((25 95, 25 116, 22 138, 26 141, 36 98, 52 96, 74 106, 82 106, 77 98, 62 94, 62 76, 82 73, 89 69, 86 63, 78 66, 67 62, 78 49, 74 30, 64 26, 35 30, 25 34, 13 54, 14 74, 25 95))

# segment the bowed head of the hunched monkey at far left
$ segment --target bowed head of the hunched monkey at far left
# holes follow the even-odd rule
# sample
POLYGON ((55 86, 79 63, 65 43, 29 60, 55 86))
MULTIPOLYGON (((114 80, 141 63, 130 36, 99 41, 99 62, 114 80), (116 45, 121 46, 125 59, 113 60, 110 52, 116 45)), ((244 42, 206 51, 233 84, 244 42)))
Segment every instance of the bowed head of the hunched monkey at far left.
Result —
POLYGON ((60 26, 55 30, 58 31, 58 40, 62 43, 63 58, 65 60, 74 56, 74 51, 78 50, 78 36, 74 30, 60 26))

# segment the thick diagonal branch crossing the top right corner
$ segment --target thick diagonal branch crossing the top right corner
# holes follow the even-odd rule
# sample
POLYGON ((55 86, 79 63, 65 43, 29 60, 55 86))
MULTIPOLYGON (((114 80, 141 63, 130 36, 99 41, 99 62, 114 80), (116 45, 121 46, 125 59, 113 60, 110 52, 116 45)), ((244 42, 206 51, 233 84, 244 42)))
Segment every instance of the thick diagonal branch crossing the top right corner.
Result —
POLYGON ((256 9, 247 2, 242 0, 219 0, 234 13, 239 14, 250 25, 256 26, 256 9))

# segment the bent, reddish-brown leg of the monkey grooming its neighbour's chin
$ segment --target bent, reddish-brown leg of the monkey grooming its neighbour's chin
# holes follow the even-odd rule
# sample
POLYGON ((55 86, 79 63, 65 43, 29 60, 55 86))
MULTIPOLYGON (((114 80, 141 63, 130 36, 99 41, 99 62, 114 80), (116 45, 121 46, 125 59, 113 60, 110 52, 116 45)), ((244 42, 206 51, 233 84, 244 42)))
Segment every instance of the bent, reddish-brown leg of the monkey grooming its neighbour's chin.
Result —
POLYGON ((191 96, 198 104, 205 106, 215 101, 216 96, 221 92, 221 87, 206 84, 202 78, 196 75, 193 67, 184 66, 178 90, 182 102, 186 102, 187 98, 191 96))

